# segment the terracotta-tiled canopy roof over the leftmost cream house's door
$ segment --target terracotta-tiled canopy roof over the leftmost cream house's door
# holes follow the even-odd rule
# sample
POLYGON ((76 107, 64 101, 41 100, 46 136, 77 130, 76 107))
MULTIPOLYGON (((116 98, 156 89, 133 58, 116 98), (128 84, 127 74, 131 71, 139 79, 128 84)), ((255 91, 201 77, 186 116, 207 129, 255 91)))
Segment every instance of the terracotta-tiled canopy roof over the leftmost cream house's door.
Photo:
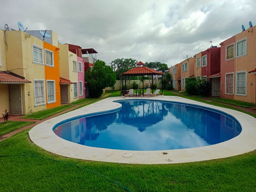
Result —
POLYGON ((0 83, 31 83, 25 77, 12 73, 10 71, 0 71, 0 83))

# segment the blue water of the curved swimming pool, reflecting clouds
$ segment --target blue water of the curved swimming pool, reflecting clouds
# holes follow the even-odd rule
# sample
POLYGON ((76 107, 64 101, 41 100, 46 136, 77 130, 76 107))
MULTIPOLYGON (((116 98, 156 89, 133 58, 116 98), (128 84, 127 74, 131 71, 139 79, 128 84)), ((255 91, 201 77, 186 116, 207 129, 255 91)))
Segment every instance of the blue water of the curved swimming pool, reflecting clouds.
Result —
POLYGON ((118 111, 71 119, 56 135, 82 145, 133 151, 174 150, 217 144, 241 133, 231 116, 197 105, 121 100, 118 111))

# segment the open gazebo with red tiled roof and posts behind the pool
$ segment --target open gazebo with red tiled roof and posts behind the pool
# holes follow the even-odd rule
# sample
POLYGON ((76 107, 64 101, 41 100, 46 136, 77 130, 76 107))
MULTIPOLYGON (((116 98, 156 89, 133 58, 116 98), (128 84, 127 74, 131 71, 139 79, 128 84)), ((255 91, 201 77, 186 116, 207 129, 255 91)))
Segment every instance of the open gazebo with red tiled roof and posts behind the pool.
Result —
MULTIPOLYGON (((162 75, 162 79, 163 79, 164 73, 160 72, 160 71, 156 71, 156 70, 148 68, 148 67, 145 67, 144 65, 145 64, 143 62, 139 61, 136 64, 136 66, 137 66, 136 68, 133 68, 130 71, 126 71, 126 72, 121 74, 121 76, 122 76, 122 95, 123 96, 126 93, 126 80, 127 80, 127 76, 142 76, 142 83, 143 83, 142 93, 144 93, 144 76, 152 75, 152 86, 151 86, 151 89, 152 89, 152 93, 154 93, 153 76, 154 75, 162 75), (124 85, 125 86, 123 86, 123 77, 124 77, 124 83, 125 83, 124 85)), ((163 84, 162 84, 162 93, 163 93, 163 84)))

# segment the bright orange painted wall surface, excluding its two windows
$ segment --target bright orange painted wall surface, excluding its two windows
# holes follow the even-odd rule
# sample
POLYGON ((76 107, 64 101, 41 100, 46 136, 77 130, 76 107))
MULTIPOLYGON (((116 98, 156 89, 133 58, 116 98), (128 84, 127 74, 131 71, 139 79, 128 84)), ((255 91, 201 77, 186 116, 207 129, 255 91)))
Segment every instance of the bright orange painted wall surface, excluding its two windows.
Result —
MULTIPOLYGON (((48 103, 46 95, 46 109, 54 108, 55 106, 60 106, 60 84, 59 84, 59 48, 44 42, 45 49, 53 52, 54 67, 49 67, 45 65, 45 79, 46 79, 46 93, 47 93, 47 80, 55 81, 55 96, 56 102, 48 103)), ((45 55, 45 54, 44 54, 45 55)))

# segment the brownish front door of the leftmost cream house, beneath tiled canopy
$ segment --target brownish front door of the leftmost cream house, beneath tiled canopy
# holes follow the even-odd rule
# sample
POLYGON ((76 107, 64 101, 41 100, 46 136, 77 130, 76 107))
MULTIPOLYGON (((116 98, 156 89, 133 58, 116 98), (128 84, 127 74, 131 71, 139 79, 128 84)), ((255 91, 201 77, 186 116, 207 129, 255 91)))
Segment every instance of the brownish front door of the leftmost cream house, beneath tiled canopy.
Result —
POLYGON ((22 89, 20 84, 9 84, 9 106, 11 115, 23 115, 22 89))

